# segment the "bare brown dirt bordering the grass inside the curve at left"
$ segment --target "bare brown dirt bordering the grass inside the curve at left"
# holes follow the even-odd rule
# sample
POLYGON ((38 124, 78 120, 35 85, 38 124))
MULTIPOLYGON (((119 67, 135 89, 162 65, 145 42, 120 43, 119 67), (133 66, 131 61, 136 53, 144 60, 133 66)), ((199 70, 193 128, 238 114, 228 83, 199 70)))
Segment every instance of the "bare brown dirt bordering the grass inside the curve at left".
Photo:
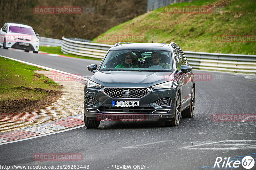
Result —
POLYGON ((14 114, 36 110, 56 102, 62 95, 62 91, 45 90, 40 88, 29 89, 28 87, 20 86, 16 87, 15 89, 36 90, 37 92, 44 92, 48 93, 49 95, 46 96, 43 100, 19 99, 0 102, 0 113, 14 114))

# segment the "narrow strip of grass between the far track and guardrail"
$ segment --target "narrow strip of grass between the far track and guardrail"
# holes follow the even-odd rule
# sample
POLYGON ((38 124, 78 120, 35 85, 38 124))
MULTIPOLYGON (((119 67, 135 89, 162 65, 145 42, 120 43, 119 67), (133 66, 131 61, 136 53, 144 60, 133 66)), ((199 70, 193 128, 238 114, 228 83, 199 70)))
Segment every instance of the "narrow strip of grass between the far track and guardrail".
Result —
POLYGON ((64 54, 64 53, 62 53, 60 46, 56 46, 56 47, 40 46, 39 51, 46 52, 46 53, 52 53, 52 54, 60 54, 60 55, 68 56, 68 57, 75 57, 75 58, 81 58, 81 59, 100 60, 100 61, 102 60, 99 58, 86 57, 86 56, 80 56, 80 55, 75 55, 75 54, 64 54))

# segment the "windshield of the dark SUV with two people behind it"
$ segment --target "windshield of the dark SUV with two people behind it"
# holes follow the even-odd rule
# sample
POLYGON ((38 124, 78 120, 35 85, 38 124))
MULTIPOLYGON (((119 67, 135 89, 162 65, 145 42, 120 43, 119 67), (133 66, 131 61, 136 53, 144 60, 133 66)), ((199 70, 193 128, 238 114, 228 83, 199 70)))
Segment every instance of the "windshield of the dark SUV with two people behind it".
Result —
POLYGON ((100 71, 172 71, 170 51, 111 50, 100 71))

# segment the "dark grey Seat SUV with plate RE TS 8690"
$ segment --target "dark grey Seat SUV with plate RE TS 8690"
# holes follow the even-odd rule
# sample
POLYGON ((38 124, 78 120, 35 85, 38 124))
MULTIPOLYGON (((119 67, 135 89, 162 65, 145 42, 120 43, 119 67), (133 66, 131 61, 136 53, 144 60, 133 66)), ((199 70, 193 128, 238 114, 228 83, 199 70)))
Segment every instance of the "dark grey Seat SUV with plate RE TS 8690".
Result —
POLYGON ((164 121, 178 126, 195 110, 195 80, 175 43, 119 42, 111 47, 84 86, 84 124, 97 128, 103 119, 164 121))

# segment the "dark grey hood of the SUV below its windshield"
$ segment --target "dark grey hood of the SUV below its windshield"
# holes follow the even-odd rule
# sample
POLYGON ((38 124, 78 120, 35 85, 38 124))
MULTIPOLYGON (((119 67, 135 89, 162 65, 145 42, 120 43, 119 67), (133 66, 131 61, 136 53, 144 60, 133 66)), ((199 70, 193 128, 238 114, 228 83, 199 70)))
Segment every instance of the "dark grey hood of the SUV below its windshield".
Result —
POLYGON ((171 74, 172 72, 98 71, 92 76, 91 80, 102 85, 106 83, 156 85, 165 81, 171 81, 171 74))

